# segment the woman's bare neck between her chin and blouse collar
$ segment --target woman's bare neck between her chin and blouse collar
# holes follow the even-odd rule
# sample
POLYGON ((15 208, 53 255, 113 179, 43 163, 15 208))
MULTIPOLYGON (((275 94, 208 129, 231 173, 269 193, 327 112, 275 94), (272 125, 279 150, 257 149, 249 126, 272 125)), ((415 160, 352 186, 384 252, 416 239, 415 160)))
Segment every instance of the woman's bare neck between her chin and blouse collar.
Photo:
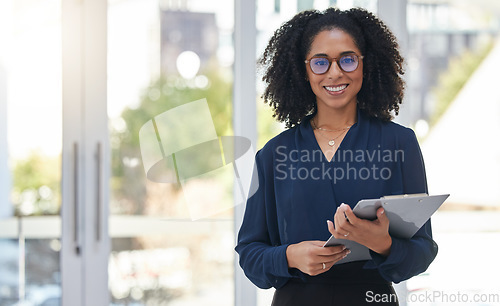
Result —
POLYGON ((342 129, 353 125, 358 119, 357 107, 343 109, 323 109, 318 107, 314 122, 318 127, 328 129, 342 129))

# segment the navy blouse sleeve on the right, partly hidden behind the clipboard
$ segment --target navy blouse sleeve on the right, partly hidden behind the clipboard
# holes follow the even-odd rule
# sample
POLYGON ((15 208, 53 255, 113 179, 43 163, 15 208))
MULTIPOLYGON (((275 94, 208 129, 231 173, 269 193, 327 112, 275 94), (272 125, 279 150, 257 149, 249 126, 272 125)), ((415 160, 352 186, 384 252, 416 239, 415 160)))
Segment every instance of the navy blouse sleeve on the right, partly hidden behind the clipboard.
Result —
MULTIPOLYGON (((405 194, 427 193, 422 153, 415 133, 407 129, 409 135, 401 140, 404 150, 402 160, 403 192, 405 194)), ((432 239, 430 219, 411 239, 392 237, 391 252, 388 257, 370 251, 372 261, 369 266, 376 266, 384 279, 399 283, 418 275, 429 267, 438 252, 438 246, 432 239)))

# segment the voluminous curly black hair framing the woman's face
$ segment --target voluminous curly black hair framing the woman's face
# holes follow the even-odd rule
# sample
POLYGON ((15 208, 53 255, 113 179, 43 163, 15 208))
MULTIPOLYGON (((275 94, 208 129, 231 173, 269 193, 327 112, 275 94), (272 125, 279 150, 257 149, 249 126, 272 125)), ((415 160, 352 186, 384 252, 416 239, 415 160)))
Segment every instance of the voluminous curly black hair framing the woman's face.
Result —
POLYGON ((316 35, 333 29, 348 33, 364 56, 358 108, 370 117, 392 120, 403 101, 403 57, 388 27, 360 8, 303 11, 276 30, 258 60, 267 84, 262 97, 274 109, 273 116, 290 128, 316 112, 304 60, 316 35))

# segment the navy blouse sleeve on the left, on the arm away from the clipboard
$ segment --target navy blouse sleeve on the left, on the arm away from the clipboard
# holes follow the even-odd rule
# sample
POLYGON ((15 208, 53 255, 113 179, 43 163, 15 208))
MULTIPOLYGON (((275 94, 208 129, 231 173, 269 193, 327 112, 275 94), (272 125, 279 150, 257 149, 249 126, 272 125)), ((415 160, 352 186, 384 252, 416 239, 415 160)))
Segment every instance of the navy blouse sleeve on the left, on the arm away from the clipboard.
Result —
POLYGON ((257 153, 255 160, 259 187, 247 201, 235 250, 240 257, 240 266, 250 281, 262 289, 279 288, 292 277, 286 259, 288 244, 279 243, 275 224, 276 206, 273 203, 273 167, 263 166, 261 153, 257 153), (266 171, 271 173, 266 175, 266 171), (268 223, 267 220, 274 222, 268 223))

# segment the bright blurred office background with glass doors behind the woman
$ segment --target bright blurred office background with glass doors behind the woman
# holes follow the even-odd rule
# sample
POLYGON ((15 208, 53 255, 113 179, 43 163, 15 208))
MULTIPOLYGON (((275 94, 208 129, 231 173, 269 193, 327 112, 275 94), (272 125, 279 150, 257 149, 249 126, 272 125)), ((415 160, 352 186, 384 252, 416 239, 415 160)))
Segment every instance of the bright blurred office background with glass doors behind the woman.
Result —
MULTIPOLYGON (((139 130, 206 98, 217 135, 259 149, 283 126, 256 58, 295 13, 329 6, 396 33, 396 121, 420 139, 430 193, 451 194, 433 218, 439 255, 398 285, 402 305, 443 304, 429 292, 500 305, 498 1, 3 0, 0 306, 269 305, 235 263, 243 205, 191 220, 181 188, 146 178, 139 130)), ((183 189, 232 199, 209 180, 183 189)))

